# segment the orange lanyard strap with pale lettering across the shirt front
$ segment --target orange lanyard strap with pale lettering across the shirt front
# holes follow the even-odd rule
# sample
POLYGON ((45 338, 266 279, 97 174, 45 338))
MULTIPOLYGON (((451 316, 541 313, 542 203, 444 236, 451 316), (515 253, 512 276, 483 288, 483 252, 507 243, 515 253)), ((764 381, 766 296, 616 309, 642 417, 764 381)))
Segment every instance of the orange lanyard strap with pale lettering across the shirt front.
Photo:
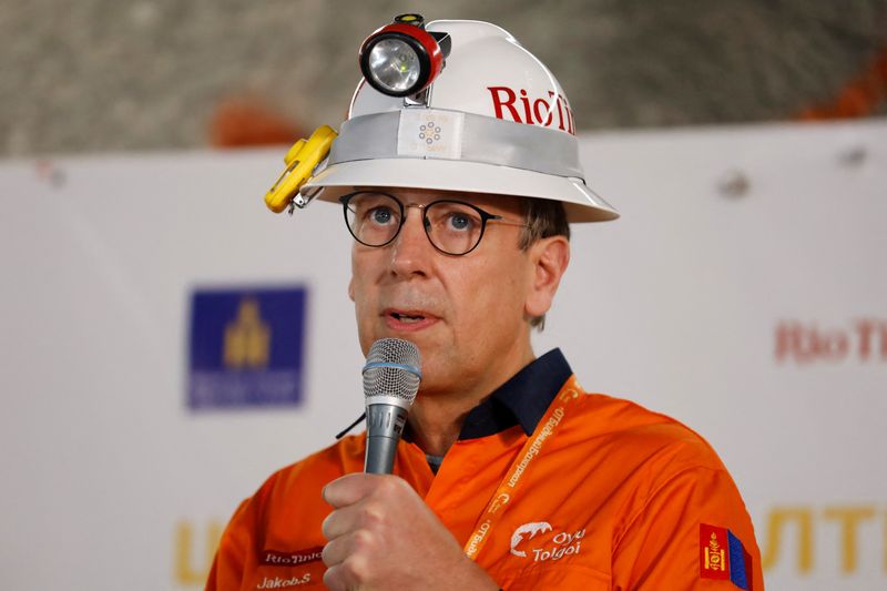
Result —
POLYGON ((490 502, 487 503, 487 508, 480 514, 477 523, 475 523, 475 531, 465 544, 465 553, 471 560, 477 559, 487 540, 489 540, 490 532, 506 512, 506 508, 517 499, 520 485, 523 483, 533 460, 541 454, 546 441, 554 436, 558 426, 567 415, 570 404, 577 398, 579 398, 579 385, 575 381, 575 376, 570 376, 558 397, 549 406, 546 415, 536 426, 533 434, 523 444, 517 459, 511 463, 508 473, 499 482, 499 487, 490 498, 490 502))

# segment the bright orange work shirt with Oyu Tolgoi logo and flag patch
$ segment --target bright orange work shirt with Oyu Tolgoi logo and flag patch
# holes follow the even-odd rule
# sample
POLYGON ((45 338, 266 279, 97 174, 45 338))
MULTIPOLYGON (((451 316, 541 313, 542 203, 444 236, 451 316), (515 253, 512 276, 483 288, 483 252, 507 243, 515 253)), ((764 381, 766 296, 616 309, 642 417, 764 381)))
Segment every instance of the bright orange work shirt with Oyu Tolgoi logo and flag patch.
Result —
MULTIPOLYGON (((763 591, 752 521, 702 437, 631 401, 587 394, 572 376, 553 394, 552 408, 569 407, 476 559, 503 590, 763 591)), ((465 546, 531 434, 519 424, 460 439, 437 475, 401 440, 395 473, 465 546)), ((365 449, 366 434, 346 437, 274 473, 234 513, 206 589, 323 588, 320 524, 332 508, 320 491, 361 471, 365 449)))

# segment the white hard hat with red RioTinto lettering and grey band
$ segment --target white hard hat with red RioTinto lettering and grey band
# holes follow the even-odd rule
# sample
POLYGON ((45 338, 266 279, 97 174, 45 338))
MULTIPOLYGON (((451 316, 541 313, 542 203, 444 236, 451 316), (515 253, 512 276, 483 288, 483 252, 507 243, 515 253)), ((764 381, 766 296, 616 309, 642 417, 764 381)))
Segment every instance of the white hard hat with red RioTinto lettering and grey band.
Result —
POLYGON ((563 202, 570 222, 619 217, 587 185, 561 85, 503 29, 441 20, 451 49, 424 104, 361 80, 329 157, 303 194, 334 201, 353 187, 409 187, 563 202))

